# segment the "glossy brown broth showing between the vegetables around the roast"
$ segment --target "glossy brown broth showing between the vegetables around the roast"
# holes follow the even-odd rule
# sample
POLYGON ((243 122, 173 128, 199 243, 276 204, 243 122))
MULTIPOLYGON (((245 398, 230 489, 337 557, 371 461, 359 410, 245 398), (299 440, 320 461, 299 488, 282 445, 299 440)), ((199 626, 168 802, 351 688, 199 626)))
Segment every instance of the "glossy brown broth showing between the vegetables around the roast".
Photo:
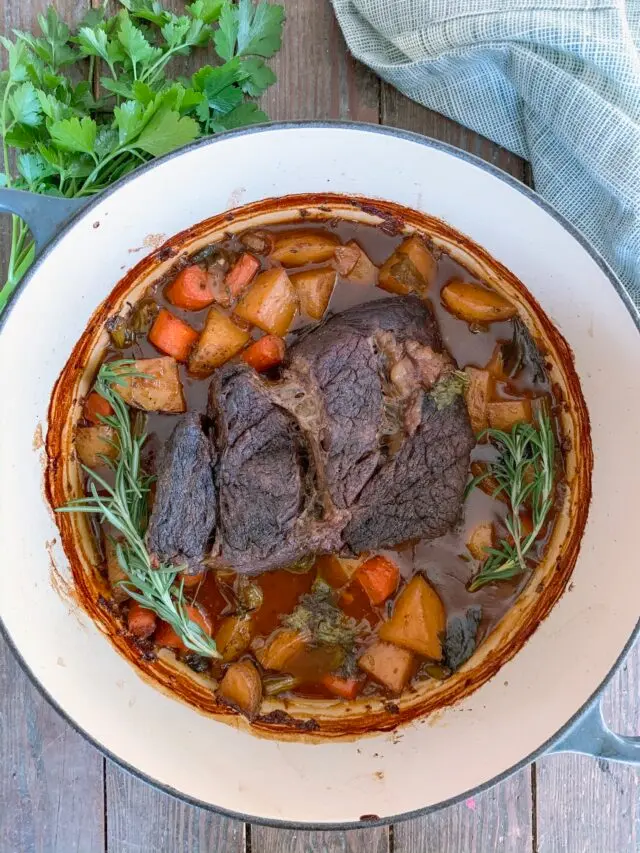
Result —
MULTIPOLYGON (((280 225, 271 227, 269 230, 280 232, 294 227, 299 228, 300 225, 280 225)), ((324 230, 327 226, 305 223, 304 227, 324 230)), ((376 265, 381 265, 402 240, 402 237, 390 236, 379 228, 342 220, 332 224, 331 230, 337 233, 345 243, 348 240, 356 240, 376 265)), ((224 246, 233 252, 239 252, 243 249, 237 238, 229 238, 225 241, 224 246)), ((263 269, 273 265, 268 258, 261 258, 261 261, 263 269)), ((300 269, 305 269, 305 267, 300 269)), ((430 302, 440 325, 444 343, 460 368, 468 365, 483 367, 491 359, 496 344, 499 341, 511 338, 512 323, 510 321, 494 323, 481 331, 471 331, 467 323, 452 316, 441 303, 440 291, 452 278, 473 280, 465 269, 447 255, 442 255, 438 261, 437 279, 430 291, 430 302)), ((187 321, 196 330, 201 330, 208 309, 199 312, 186 312, 170 305, 164 299, 162 292, 165 283, 166 281, 151 291, 158 304, 171 310, 172 313, 187 321)), ((377 287, 354 284, 339 278, 328 310, 337 313, 351 306, 388 296, 389 294, 386 291, 377 287)), ((307 322, 308 320, 304 317, 296 317, 290 331, 295 331, 306 325, 307 322)), ((255 337, 258 336, 259 333, 255 334, 255 337)), ((111 350, 107 357, 150 358, 156 357, 158 354, 158 350, 147 341, 146 337, 141 336, 130 349, 125 351, 111 350)), ((187 409, 205 412, 209 380, 194 379, 189 376, 184 365, 180 366, 180 376, 187 400, 187 409)), ((508 383, 496 383, 495 396, 497 399, 509 399, 550 393, 551 390, 548 385, 544 383, 533 384, 530 375, 525 370, 518 376, 517 380, 511 380, 508 383)), ((149 415, 147 423, 148 446, 149 458, 152 461, 174 425, 174 416, 149 415)), ((490 448, 486 445, 478 445, 473 458, 483 459, 490 454, 490 448)), ((455 530, 433 541, 421 541, 410 546, 381 552, 399 566, 402 576, 400 590, 406 580, 416 572, 422 572, 438 592, 447 617, 463 615, 471 605, 482 607, 483 616, 478 639, 485 638, 513 605, 530 577, 530 573, 524 573, 513 580, 483 587, 475 593, 470 593, 467 589, 469 580, 478 568, 477 563, 470 559, 466 549, 470 533, 481 522, 495 521, 499 525, 505 516, 505 512, 503 503, 492 499, 479 489, 475 489, 465 502, 461 521, 455 530)), ((549 525, 549 529, 551 526, 552 524, 549 525)), ((534 556, 539 558, 543 549, 544 541, 539 544, 534 556)), ((254 638, 258 644, 266 640, 274 630, 281 626, 282 617, 290 614, 298 604, 300 596, 309 592, 314 577, 314 570, 306 573, 294 573, 281 569, 258 575, 252 579, 260 586, 263 593, 262 606, 253 616, 254 638)), ((205 581, 191 594, 192 599, 212 617, 214 635, 223 616, 233 612, 232 600, 225 592, 225 589, 228 590, 232 583, 233 576, 227 574, 224 578, 217 578, 214 574, 209 573, 205 581)), ((340 596, 339 604, 343 612, 357 622, 366 621, 371 631, 374 631, 380 621, 385 618, 385 615, 390 612, 391 602, 387 602, 382 607, 372 606, 362 588, 355 582, 350 583, 338 594, 340 596)), ((364 644, 366 645, 367 642, 369 640, 365 640, 364 644)), ((381 687, 368 683, 365 692, 375 694, 384 691, 381 687)), ((305 697, 326 698, 331 695, 320 684, 314 683, 313 679, 305 681, 294 693, 305 697)))

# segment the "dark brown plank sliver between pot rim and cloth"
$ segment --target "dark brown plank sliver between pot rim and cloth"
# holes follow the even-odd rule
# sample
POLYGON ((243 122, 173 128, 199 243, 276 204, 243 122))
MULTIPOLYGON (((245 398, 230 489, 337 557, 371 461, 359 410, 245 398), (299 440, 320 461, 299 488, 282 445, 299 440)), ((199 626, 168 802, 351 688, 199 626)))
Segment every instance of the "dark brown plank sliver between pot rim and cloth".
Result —
POLYGON ((383 124, 414 130, 425 136, 432 136, 442 142, 448 142, 457 148, 482 157, 494 166, 504 169, 510 175, 521 181, 527 178, 525 161, 512 154, 505 148, 500 148, 490 139, 485 139, 455 121, 445 118, 440 113, 432 112, 425 107, 410 101, 401 95, 388 83, 382 83, 380 91, 381 118, 383 124))

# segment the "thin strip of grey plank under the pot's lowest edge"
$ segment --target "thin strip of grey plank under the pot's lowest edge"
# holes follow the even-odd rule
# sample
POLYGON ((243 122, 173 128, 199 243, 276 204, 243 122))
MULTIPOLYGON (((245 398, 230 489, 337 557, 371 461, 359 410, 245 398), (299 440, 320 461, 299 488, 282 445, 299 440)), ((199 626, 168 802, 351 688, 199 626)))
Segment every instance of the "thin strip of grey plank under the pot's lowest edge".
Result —
POLYGON ((389 835, 386 829, 298 832, 252 826, 250 853, 390 853, 389 835))

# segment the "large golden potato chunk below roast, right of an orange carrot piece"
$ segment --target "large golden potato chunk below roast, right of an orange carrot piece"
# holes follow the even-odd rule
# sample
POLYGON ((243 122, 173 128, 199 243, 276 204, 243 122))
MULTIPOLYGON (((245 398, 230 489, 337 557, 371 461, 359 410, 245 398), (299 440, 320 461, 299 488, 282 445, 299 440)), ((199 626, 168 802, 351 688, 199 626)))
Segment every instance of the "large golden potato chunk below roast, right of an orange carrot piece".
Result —
POLYGON ((381 640, 442 659, 446 616, 440 596, 422 575, 415 575, 398 596, 393 614, 378 632, 381 640))

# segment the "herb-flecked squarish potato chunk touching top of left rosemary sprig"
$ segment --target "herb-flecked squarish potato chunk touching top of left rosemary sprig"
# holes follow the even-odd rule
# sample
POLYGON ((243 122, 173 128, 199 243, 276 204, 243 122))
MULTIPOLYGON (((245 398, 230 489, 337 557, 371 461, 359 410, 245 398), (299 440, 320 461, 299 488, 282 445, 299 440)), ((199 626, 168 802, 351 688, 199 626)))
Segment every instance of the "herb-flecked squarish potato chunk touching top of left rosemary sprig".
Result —
POLYGON ((184 392, 175 358, 140 358, 133 368, 143 376, 123 374, 115 386, 125 403, 145 412, 177 414, 186 411, 184 392))

